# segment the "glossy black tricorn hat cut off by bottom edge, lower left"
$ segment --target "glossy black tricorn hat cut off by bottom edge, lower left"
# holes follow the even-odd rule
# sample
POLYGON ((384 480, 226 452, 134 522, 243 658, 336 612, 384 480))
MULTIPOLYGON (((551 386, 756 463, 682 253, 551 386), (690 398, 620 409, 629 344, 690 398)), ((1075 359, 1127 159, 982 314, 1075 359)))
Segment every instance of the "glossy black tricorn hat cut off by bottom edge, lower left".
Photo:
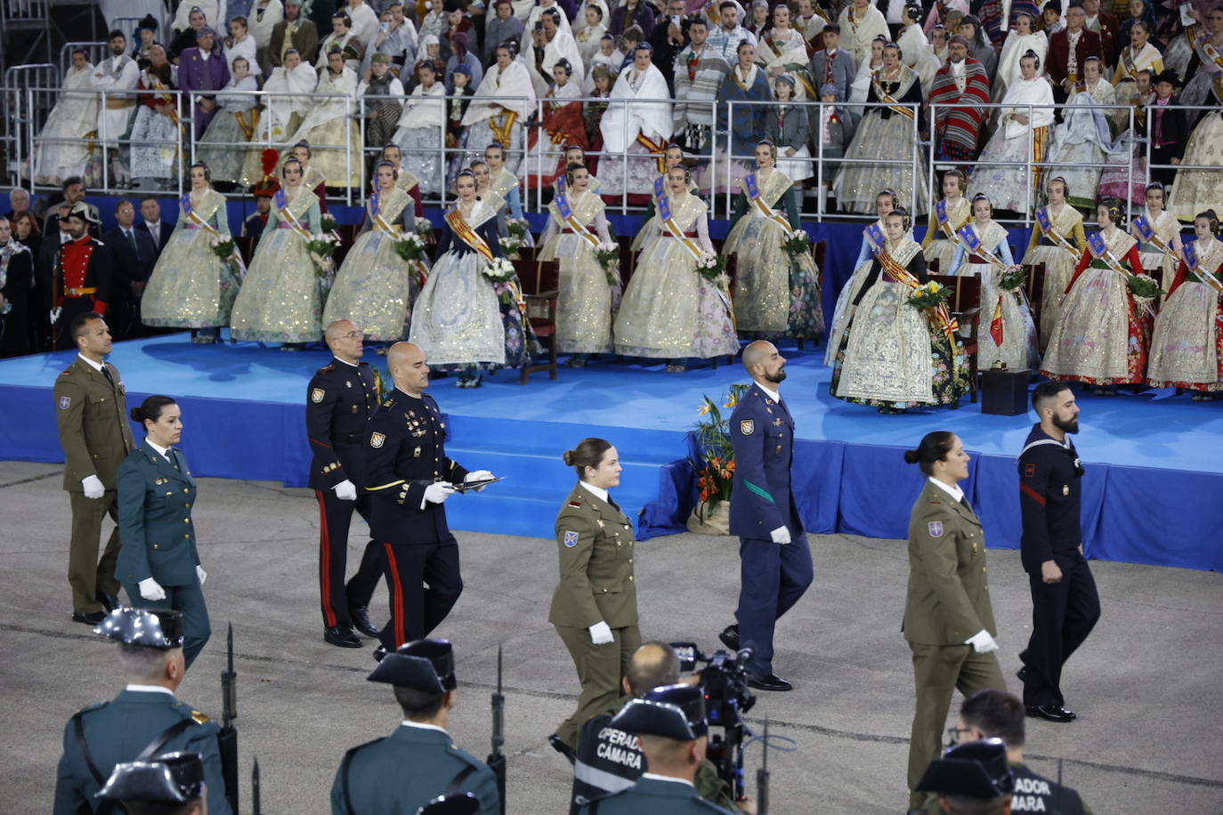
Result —
POLYGON ((127 815, 205 815, 205 788, 198 753, 166 753, 116 764, 97 797, 119 804, 127 815))

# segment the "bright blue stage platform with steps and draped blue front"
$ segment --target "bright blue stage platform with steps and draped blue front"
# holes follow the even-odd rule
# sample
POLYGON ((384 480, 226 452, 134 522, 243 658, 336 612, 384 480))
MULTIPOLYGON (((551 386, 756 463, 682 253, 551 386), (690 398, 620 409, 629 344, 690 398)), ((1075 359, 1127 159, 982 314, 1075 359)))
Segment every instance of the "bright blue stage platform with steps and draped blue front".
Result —
MULTIPOLYGON (((1014 455, 1033 417, 983 415, 980 406, 881 415, 828 395, 823 349, 790 357, 786 400, 796 420, 795 489, 815 533, 904 538, 921 477, 901 458, 922 434, 949 429, 972 452, 967 494, 989 545, 1019 545, 1014 455)), ((72 359, 61 352, 0 362, 0 459, 59 462, 51 386, 72 359)), ((285 353, 254 343, 193 346, 186 335, 117 343, 111 360, 130 404, 144 395, 183 406, 186 450, 198 475, 306 483, 309 463, 303 403, 322 349, 285 353)), ((382 357, 367 353, 382 364, 382 357)), ((457 529, 550 536, 572 484, 560 453, 587 435, 615 444, 625 462, 616 494, 640 513, 640 536, 682 528, 693 501, 687 429, 701 396, 722 396, 742 369, 695 368, 667 374, 596 362, 563 369, 556 381, 536 374, 527 386, 512 371, 477 390, 454 379, 430 392, 450 415, 451 456, 506 475, 483 494, 446 505, 457 529)), ((1092 557, 1223 569, 1223 402, 1191 402, 1172 391, 1081 395, 1075 439, 1087 466, 1086 550, 1092 557)), ((204 496, 207 500, 207 496, 204 496)))

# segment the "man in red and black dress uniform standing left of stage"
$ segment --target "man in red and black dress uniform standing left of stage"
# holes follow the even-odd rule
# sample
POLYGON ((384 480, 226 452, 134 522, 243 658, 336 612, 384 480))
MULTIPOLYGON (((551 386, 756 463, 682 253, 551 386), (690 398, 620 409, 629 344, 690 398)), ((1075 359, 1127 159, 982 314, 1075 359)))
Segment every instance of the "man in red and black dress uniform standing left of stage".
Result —
POLYGON ((98 219, 83 200, 68 210, 68 238, 60 244, 55 257, 51 290, 51 323, 55 330, 55 349, 73 347, 72 320, 87 312, 106 313, 110 301, 110 253, 105 244, 88 232, 98 219))

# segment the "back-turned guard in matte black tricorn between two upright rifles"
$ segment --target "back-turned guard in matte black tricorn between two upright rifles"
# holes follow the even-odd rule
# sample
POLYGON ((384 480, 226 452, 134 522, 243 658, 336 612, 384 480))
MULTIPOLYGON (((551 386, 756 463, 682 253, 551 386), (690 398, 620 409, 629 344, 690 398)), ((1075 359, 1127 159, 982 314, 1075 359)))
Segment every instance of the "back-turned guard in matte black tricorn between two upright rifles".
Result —
POLYGON ((500 811, 497 776, 450 740, 457 700, 455 656, 444 639, 418 639, 386 654, 368 677, 395 687, 404 723, 344 755, 331 784, 333 815, 415 813, 439 795, 470 792, 484 815, 500 811))

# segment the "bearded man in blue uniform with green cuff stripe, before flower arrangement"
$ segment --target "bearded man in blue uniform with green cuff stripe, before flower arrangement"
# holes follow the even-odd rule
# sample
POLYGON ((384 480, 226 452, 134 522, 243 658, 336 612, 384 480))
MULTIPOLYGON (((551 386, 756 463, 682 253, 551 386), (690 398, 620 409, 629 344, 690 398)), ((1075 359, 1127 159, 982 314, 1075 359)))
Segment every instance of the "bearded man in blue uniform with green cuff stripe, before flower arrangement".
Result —
POLYGON ((761 690, 789 690, 773 673, 773 629, 812 580, 811 549, 790 490, 794 417, 781 401, 785 358, 772 342, 744 348, 752 386, 730 415, 735 480, 730 491, 730 534, 739 535, 741 584, 737 623, 719 639, 730 649, 752 649, 747 682, 761 690))

